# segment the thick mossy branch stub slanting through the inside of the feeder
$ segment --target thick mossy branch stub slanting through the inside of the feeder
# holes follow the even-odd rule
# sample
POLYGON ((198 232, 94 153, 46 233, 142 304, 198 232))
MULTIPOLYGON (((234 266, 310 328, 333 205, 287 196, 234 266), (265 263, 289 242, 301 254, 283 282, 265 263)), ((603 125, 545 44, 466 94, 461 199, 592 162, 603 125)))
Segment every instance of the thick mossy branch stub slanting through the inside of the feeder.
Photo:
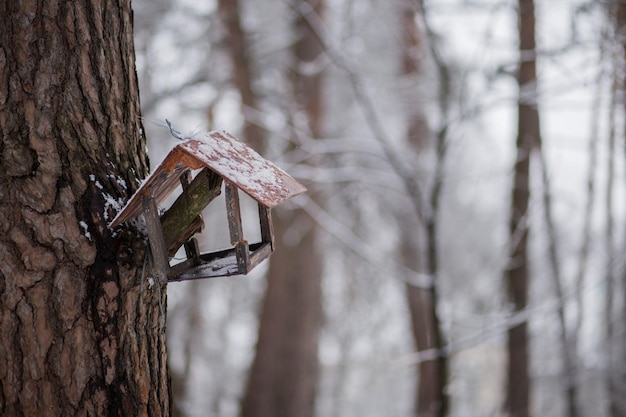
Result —
POLYGON ((202 210, 220 194, 221 185, 222 178, 205 168, 183 190, 174 204, 161 217, 163 236, 168 248, 180 242, 174 250, 176 252, 189 239, 191 235, 186 236, 185 233, 189 232, 189 227, 197 221, 196 218, 202 210))

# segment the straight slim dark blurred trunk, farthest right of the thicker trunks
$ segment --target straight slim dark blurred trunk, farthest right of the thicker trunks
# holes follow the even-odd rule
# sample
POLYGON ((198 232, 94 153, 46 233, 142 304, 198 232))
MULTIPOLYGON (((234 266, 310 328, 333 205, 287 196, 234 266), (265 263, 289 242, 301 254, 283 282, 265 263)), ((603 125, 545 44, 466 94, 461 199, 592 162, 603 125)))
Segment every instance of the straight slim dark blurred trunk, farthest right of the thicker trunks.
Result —
MULTIPOLYGON (((530 154, 538 143, 539 114, 536 96, 525 94, 536 82, 535 10, 533 0, 519 0, 518 134, 517 158, 513 174, 511 217, 509 221, 509 265, 505 273, 509 302, 514 312, 523 311, 528 302, 528 202, 530 197, 530 154)), ((532 90, 531 90, 532 91, 532 90)), ((530 376, 528 324, 516 324, 508 331, 508 384, 506 409, 512 417, 530 415, 530 376)))

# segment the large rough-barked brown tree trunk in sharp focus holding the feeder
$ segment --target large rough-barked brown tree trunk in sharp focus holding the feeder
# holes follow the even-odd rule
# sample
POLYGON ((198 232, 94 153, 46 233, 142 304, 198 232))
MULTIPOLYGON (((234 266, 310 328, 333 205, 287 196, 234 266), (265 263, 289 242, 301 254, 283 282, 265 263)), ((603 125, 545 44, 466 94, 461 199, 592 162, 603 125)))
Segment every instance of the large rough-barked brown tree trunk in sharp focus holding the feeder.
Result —
POLYGON ((148 164, 130 1, 0 16, 0 415, 166 416, 165 289, 106 226, 148 164))

